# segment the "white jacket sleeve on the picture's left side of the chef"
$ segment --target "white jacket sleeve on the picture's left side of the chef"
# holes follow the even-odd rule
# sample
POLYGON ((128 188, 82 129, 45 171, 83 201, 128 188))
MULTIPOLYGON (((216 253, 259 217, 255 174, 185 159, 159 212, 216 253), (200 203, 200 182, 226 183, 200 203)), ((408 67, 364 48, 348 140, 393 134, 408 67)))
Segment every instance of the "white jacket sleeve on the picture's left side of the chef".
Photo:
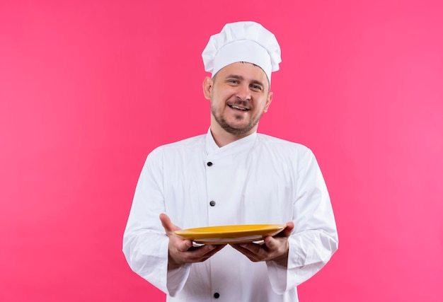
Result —
POLYGON ((162 163, 159 150, 146 158, 123 236, 123 252, 134 272, 175 296, 183 289, 190 268, 185 265, 168 272, 168 237, 159 219, 165 212, 162 163))

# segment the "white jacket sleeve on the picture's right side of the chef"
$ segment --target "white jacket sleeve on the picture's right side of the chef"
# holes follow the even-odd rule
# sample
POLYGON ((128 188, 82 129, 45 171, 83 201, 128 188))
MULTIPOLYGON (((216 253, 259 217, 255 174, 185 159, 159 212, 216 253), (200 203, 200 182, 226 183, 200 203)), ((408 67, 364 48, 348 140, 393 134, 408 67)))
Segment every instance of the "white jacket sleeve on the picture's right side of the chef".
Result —
POLYGON ((338 233, 328 190, 309 149, 299 164, 294 199, 294 231, 289 237, 287 267, 267 262, 270 283, 277 294, 294 289, 311 278, 338 249, 338 233))

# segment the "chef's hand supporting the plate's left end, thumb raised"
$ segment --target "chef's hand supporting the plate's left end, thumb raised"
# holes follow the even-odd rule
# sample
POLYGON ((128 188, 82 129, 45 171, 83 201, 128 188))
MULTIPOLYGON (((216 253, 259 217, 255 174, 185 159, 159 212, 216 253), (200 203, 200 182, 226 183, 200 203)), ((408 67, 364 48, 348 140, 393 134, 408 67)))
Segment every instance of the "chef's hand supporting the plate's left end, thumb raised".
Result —
POLYGON ((176 269, 185 263, 205 261, 225 246, 194 246, 191 240, 174 235, 174 231, 178 231, 180 228, 171 222, 168 215, 160 214, 160 221, 169 238, 168 269, 176 269))

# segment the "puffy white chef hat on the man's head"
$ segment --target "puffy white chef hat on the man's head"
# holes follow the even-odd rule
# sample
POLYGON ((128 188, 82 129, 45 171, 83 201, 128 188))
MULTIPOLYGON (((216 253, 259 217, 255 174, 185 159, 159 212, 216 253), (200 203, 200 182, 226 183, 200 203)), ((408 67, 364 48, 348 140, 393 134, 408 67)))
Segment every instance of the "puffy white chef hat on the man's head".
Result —
POLYGON ((229 64, 249 62, 260 66, 270 82, 271 72, 277 71, 282 62, 280 54, 274 34, 258 23, 243 21, 228 23, 222 32, 212 35, 202 58, 205 71, 212 72, 212 76, 229 64))

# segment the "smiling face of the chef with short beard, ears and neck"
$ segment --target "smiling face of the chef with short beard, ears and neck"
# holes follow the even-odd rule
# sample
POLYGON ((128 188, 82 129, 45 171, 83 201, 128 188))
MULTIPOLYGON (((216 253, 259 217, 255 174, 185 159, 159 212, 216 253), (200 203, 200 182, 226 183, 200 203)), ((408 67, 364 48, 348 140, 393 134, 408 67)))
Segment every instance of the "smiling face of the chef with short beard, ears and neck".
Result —
POLYGON ((234 140, 257 130, 258 121, 272 101, 265 72, 251 63, 236 62, 203 82, 211 100, 212 135, 229 134, 234 140), (226 132, 226 133, 223 133, 226 132))

